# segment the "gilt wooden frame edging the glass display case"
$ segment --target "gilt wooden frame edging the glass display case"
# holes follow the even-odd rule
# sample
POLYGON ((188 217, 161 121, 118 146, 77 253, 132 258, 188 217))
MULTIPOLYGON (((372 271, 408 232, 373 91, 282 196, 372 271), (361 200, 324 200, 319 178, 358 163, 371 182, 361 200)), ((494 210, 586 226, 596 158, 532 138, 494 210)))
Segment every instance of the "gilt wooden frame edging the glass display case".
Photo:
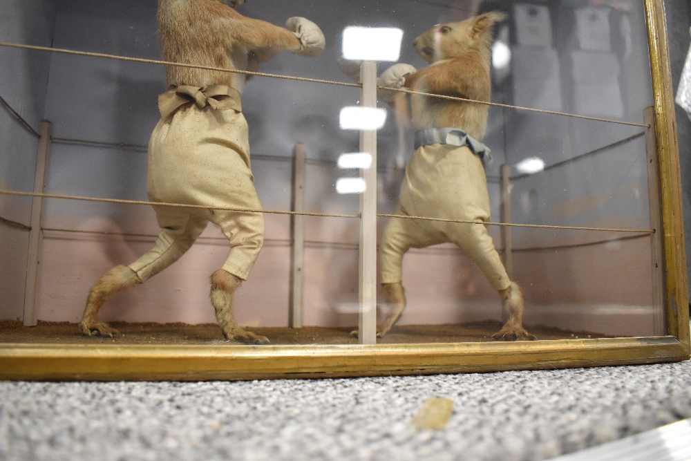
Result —
POLYGON ((690 357, 681 178, 663 0, 645 0, 659 156, 669 335, 345 346, 1 344, 0 379, 207 380, 422 375, 650 364, 690 357))

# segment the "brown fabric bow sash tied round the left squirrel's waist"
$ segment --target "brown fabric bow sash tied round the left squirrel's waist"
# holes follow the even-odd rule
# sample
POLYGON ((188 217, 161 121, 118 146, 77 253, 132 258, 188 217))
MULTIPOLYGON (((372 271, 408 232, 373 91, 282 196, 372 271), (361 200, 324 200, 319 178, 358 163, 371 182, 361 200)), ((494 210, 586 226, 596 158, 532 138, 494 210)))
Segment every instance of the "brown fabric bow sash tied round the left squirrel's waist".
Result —
POLYGON ((211 109, 217 111, 227 111, 228 109, 234 109, 237 112, 243 111, 240 103, 240 92, 226 85, 201 87, 173 85, 169 91, 158 96, 158 109, 163 119, 167 119, 180 107, 192 103, 196 104, 199 109, 209 105, 211 109))

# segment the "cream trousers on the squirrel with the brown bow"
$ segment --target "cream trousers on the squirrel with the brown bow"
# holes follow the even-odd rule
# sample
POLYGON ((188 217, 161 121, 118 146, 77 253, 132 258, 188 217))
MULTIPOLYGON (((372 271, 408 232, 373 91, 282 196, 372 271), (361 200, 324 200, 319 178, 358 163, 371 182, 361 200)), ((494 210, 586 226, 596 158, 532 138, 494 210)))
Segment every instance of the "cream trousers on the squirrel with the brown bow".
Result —
POLYGON ((182 106, 160 120, 149 141, 146 191, 152 202, 204 205, 173 208, 154 205, 162 231, 155 246, 129 267, 143 281, 178 261, 209 221, 230 242, 223 265, 246 280, 261 250, 264 216, 214 207, 261 209, 249 169, 247 122, 233 109, 182 106))

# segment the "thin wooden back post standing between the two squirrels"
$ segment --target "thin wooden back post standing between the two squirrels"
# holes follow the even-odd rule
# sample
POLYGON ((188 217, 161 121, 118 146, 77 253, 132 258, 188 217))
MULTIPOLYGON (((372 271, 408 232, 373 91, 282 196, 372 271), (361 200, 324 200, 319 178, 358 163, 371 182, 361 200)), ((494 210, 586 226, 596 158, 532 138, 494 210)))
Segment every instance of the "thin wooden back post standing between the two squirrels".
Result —
MULTIPOLYGON (((292 211, 305 210, 305 144, 295 144, 293 160, 293 199, 292 211)), ((302 328, 303 321, 303 286, 305 264, 305 216, 290 217, 290 311, 288 324, 290 328, 302 328)))

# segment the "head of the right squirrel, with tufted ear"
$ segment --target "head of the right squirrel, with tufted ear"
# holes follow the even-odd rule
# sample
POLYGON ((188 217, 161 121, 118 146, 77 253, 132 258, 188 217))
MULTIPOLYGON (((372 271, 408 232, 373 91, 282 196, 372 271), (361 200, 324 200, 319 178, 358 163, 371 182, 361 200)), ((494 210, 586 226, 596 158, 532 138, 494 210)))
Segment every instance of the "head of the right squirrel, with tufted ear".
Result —
POLYGON ((430 64, 469 51, 480 53, 489 62, 493 26, 505 18, 504 13, 492 11, 465 21, 440 24, 417 37, 413 46, 430 64))

